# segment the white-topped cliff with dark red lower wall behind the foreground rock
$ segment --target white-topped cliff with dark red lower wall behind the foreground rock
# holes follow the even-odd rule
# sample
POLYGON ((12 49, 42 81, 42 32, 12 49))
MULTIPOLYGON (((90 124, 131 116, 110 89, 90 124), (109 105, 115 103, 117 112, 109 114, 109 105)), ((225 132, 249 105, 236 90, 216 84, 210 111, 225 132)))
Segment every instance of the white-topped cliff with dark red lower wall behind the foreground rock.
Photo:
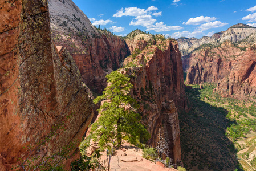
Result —
POLYGON ((129 54, 123 39, 97 30, 71 0, 48 0, 52 39, 71 52, 83 82, 96 93, 107 86, 105 75, 121 67, 129 54))

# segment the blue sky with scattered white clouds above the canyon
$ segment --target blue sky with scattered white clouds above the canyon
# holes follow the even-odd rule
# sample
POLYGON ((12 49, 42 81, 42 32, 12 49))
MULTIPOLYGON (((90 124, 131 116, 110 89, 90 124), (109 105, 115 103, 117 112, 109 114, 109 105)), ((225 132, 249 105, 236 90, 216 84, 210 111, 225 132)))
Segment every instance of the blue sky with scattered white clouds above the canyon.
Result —
POLYGON ((256 27, 255 0, 73 1, 93 25, 116 35, 139 28, 172 38, 201 38, 237 23, 256 27))

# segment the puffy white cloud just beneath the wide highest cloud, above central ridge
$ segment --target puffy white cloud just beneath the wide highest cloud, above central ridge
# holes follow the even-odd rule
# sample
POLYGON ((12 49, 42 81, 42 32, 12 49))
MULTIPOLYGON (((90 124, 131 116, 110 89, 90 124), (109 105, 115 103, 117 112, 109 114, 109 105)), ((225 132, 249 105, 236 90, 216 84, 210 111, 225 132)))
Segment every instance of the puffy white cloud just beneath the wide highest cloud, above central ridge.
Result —
POLYGON ((129 25, 148 27, 150 25, 153 25, 153 23, 155 22, 156 19, 153 19, 152 16, 148 14, 133 18, 129 25))

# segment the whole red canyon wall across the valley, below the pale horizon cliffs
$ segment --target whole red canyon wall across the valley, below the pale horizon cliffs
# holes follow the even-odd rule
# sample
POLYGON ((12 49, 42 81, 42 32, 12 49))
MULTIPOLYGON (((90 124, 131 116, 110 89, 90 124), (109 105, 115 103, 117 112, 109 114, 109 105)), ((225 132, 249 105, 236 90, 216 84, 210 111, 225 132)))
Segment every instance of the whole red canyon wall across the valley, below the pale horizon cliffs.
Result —
POLYGON ((255 97, 255 38, 256 34, 251 34, 237 43, 227 40, 215 46, 203 44, 184 56, 186 84, 218 83, 217 91, 222 96, 255 97))

